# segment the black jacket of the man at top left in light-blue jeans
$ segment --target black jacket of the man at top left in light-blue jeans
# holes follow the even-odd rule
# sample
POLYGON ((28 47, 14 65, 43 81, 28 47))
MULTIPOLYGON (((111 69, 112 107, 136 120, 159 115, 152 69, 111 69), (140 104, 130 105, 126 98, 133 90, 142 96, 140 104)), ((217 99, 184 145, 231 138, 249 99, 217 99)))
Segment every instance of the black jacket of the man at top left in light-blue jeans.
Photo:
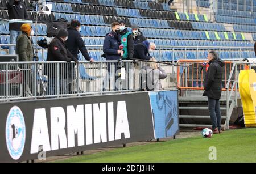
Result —
MULTIPOLYGON (((27 19, 27 9, 26 6, 19 2, 15 2, 14 0, 9 0, 7 3, 9 19, 27 19)), ((23 23, 10 23, 9 31, 15 30, 20 31, 20 27, 23 23)))

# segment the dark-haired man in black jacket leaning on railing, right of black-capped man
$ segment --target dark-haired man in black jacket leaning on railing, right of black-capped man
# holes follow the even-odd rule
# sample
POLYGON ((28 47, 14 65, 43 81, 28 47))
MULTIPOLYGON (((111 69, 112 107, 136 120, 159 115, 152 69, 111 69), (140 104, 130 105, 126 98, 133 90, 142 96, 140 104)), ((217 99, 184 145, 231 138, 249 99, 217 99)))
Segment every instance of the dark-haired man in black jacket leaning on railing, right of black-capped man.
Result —
POLYGON ((78 20, 72 20, 71 26, 68 28, 68 40, 65 41, 69 52, 73 57, 78 58, 79 50, 82 53, 82 56, 90 62, 94 62, 93 58, 90 58, 88 51, 85 47, 84 40, 82 40, 81 34, 81 23, 78 20))

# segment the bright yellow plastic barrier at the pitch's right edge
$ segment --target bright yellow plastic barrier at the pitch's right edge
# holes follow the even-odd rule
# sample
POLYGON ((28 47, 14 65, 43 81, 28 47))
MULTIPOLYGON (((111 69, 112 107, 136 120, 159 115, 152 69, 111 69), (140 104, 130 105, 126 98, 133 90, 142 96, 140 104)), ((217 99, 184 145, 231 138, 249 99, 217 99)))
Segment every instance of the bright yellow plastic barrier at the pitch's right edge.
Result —
POLYGON ((256 126, 256 73, 253 69, 241 70, 239 74, 239 92, 245 116, 245 126, 256 126))

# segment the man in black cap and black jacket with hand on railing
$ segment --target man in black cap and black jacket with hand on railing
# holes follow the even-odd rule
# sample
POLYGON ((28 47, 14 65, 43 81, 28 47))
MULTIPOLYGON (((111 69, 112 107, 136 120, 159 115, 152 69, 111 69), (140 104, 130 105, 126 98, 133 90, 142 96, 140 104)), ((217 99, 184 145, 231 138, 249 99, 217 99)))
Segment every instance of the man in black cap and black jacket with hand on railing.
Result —
MULTIPOLYGON (((73 57, 73 55, 67 49, 65 45, 65 41, 68 39, 68 31, 65 29, 60 29, 57 36, 51 41, 48 46, 47 53, 47 61, 75 61, 77 62, 77 58, 73 57)), ((72 71, 73 65, 71 63, 59 64, 59 71, 57 72, 56 64, 46 65, 46 73, 49 77, 48 84, 48 95, 56 95, 56 82, 59 80, 59 93, 66 94, 67 86, 70 82, 70 76, 73 74, 72 71), (57 78, 57 74, 59 74, 59 78, 57 78)))

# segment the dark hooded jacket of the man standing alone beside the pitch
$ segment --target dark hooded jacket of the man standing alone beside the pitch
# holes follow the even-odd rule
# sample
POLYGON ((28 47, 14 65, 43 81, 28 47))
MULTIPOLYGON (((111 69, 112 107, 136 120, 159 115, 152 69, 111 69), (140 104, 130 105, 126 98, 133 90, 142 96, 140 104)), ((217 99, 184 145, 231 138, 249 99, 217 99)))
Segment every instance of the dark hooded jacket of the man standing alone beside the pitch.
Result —
POLYGON ((209 69, 204 78, 205 91, 203 96, 219 100, 221 98, 222 74, 225 63, 220 59, 213 59, 209 62, 209 65, 209 69))

